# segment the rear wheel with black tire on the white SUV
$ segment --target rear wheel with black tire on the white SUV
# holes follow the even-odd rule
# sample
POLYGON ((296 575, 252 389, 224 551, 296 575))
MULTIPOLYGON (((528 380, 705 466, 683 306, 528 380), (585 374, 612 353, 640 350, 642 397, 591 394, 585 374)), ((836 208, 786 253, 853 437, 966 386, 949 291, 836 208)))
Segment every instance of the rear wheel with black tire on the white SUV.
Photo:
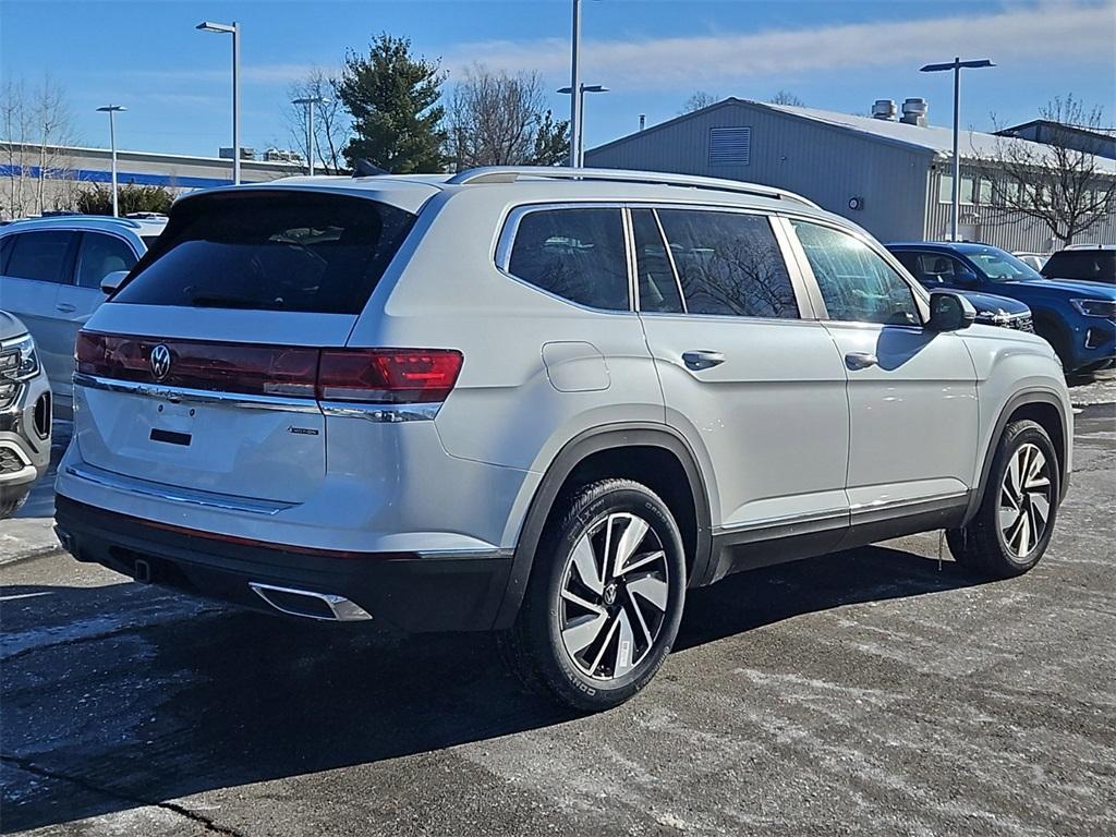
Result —
POLYGON ((637 482, 603 480, 566 502, 568 510, 554 516, 539 542, 516 625, 500 641, 504 660, 526 685, 542 686, 566 706, 599 712, 643 689, 670 653, 685 604, 685 552, 670 508, 637 482), (642 536, 642 526, 635 521, 647 527, 642 536), (629 539, 638 540, 632 545, 631 558, 617 561, 629 529, 629 539), (616 539, 610 554, 607 537, 616 539), (583 565, 575 550, 584 559, 585 543, 598 570, 590 580, 600 586, 599 595, 583 584, 583 565), (648 558, 660 552, 661 558, 648 558), (665 597, 662 612, 641 595, 648 589, 658 600, 665 597), (564 591, 584 598, 600 613, 570 604, 564 591), (584 651, 571 652, 571 632, 581 629, 581 635, 588 635, 584 632, 591 633, 594 627, 596 639, 584 651), (622 645, 625 636, 626 648, 622 645), (599 657, 599 665, 590 656, 599 657))

